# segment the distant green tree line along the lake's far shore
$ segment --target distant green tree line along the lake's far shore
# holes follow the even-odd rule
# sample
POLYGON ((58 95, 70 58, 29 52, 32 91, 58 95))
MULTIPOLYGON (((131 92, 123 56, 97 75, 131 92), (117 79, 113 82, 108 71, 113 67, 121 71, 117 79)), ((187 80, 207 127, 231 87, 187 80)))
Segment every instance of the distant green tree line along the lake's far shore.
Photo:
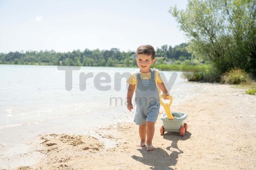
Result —
MULTIPOLYGON (((168 60, 191 59, 191 53, 186 49, 188 44, 182 43, 174 47, 163 45, 156 48, 156 58, 159 63, 168 60)), ((14 65, 60 65, 60 66, 135 66, 136 53, 121 52, 117 48, 110 50, 73 50, 72 52, 55 52, 55 50, 40 50, 26 52, 0 53, 0 64, 14 65)))

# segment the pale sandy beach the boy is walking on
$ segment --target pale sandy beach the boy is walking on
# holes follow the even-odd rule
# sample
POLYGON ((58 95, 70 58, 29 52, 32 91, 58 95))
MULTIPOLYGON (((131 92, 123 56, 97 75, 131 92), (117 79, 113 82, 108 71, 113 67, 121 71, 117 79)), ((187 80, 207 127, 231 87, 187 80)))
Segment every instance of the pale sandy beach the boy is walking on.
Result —
POLYGON ((113 124, 96 131, 113 147, 85 135, 39 135, 35 150, 44 158, 16 169, 256 169, 256 96, 229 85, 200 86, 193 99, 171 108, 188 114, 183 137, 160 135, 161 107, 154 151, 137 147, 138 126, 133 122, 113 124))

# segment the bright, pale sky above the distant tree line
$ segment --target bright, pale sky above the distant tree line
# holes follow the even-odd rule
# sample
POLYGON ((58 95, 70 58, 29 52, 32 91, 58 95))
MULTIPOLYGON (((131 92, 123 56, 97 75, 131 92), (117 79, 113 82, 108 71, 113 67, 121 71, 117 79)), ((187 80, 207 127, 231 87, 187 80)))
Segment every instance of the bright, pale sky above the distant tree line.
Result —
POLYGON ((0 53, 179 45, 186 39, 168 12, 175 5, 187 0, 0 0, 0 53))

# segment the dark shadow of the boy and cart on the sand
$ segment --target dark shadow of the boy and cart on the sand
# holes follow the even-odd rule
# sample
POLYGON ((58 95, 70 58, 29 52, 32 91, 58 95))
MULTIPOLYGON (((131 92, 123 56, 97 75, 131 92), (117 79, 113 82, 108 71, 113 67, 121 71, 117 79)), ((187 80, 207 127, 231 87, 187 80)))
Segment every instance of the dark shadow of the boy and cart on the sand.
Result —
POLYGON ((177 147, 177 142, 189 139, 191 133, 187 131, 185 135, 181 137, 179 133, 168 132, 162 136, 164 139, 172 141, 171 145, 166 148, 167 150, 172 151, 170 155, 166 150, 163 150, 162 148, 155 148, 154 151, 147 151, 146 147, 143 147, 138 149, 138 151, 141 152, 142 157, 133 155, 131 158, 138 160, 143 164, 151 165, 152 169, 172 169, 170 166, 176 165, 177 156, 183 153, 183 151, 177 147), (177 151, 173 149, 171 150, 171 148, 174 148, 177 151))

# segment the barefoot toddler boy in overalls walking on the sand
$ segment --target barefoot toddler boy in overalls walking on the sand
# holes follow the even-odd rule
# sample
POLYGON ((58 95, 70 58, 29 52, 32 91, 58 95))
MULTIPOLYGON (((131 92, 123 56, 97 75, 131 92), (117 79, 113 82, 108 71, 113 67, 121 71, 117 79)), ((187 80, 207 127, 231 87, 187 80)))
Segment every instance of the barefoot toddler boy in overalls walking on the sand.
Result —
POLYGON ((137 109, 134 117, 135 124, 139 125, 139 146, 147 146, 147 150, 154 150, 152 139, 155 133, 155 122, 158 118, 160 101, 159 90, 163 97, 168 96, 158 70, 150 69, 155 62, 155 49, 151 45, 141 45, 137 49, 137 65, 139 71, 133 73, 127 80, 129 88, 127 91, 127 109, 131 111, 133 104, 131 99, 135 90, 135 102, 137 109))

